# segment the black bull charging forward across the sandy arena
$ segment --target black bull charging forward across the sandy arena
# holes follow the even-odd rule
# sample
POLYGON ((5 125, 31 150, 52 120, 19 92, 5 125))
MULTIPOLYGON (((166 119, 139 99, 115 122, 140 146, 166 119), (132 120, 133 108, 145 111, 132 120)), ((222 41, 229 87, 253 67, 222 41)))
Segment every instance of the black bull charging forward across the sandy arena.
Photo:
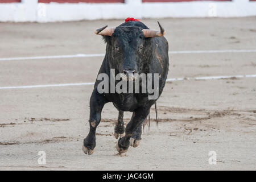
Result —
MULTIPOLYGON (((163 37, 164 30, 149 30, 142 22, 129 21, 116 28, 100 28, 96 34, 102 35, 106 46, 106 55, 102 62, 100 73, 110 77, 110 69, 117 73, 158 73, 159 96, 166 82, 169 57, 168 42, 163 37)), ((154 77, 153 77, 154 79, 154 77)), ((154 82, 154 81, 153 81, 154 82)), ((96 128, 101 121, 101 111, 108 102, 113 102, 119 115, 114 128, 114 136, 118 139, 117 151, 126 152, 129 146, 137 147, 141 140, 142 124, 150 112, 155 100, 149 100, 147 94, 139 93, 102 93, 97 90, 100 81, 96 81, 90 97, 90 131, 84 139, 82 150, 92 155, 96 147, 96 128), (126 128, 123 123, 123 111, 133 112, 126 128)))

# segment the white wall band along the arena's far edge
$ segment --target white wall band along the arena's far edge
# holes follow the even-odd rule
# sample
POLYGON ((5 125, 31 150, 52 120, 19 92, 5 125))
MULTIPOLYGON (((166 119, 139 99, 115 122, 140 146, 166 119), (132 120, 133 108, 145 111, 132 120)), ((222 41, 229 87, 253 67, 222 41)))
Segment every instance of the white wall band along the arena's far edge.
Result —
POLYGON ((70 20, 168 18, 168 17, 237 17, 256 16, 256 2, 195 1, 142 3, 126 0, 125 3, 0 3, 1 22, 56 22, 70 20))

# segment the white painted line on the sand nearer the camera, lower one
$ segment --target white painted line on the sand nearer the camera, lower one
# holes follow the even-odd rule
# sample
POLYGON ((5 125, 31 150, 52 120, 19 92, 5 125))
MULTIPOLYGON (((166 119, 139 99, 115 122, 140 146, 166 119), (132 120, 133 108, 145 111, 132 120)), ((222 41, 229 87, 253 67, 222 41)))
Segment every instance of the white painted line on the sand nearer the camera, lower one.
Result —
MULTIPOLYGON (((179 80, 216 80, 216 79, 224 79, 224 78, 249 78, 249 77, 256 77, 256 75, 183 77, 183 78, 168 78, 166 81, 170 82, 170 81, 179 81, 179 80)), ((3 86, 3 87, 0 87, 0 90, 46 88, 46 87, 59 87, 59 86, 81 86, 81 85, 94 85, 94 82, 73 83, 73 84, 53 84, 53 85, 3 86)))

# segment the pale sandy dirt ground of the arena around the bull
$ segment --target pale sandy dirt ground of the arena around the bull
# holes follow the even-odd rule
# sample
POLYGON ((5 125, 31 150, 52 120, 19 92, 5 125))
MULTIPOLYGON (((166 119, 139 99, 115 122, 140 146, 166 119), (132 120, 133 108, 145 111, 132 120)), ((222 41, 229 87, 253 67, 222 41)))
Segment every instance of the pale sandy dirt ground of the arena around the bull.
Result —
MULTIPOLYGON (((142 20, 158 28, 156 19, 142 20)), ((256 48, 256 17, 159 19, 170 51, 256 48)), ((0 58, 104 53, 93 30, 123 20, 0 23, 0 58)), ((255 75, 256 52, 170 55, 168 78, 255 75)), ((0 61, 0 87, 94 82, 102 57, 0 61)), ((124 155, 113 137, 118 111, 107 104, 92 156, 89 131, 93 85, 0 89, 0 170, 240 170, 256 169, 256 78, 182 80, 166 84, 151 109, 139 147, 124 155), (46 165, 38 152, 46 152, 46 165), (217 164, 210 165, 210 151, 217 164)), ((125 113, 125 122, 131 113, 125 113)))

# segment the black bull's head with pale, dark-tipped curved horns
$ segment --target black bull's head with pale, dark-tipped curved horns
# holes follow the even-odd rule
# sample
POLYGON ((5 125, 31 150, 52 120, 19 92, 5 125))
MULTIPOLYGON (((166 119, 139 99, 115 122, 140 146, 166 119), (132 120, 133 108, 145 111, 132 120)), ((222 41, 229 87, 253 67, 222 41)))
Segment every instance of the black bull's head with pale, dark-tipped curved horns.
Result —
POLYGON ((110 56, 110 68, 125 75, 139 73, 139 65, 146 51, 146 39, 164 36, 164 28, 158 22, 160 31, 143 29, 137 26, 108 26, 98 28, 95 34, 104 36, 108 43, 107 54, 110 56))

